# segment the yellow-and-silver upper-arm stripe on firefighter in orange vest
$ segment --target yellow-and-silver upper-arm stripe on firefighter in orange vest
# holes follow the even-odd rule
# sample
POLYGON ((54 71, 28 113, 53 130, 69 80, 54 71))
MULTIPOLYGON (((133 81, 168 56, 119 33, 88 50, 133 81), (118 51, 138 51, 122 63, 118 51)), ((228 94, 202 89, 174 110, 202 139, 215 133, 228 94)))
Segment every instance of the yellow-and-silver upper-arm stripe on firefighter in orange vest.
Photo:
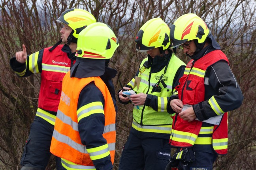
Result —
POLYGON ((80 107, 77 110, 77 121, 79 122, 82 118, 90 116, 94 113, 104 114, 102 102, 92 102, 80 107))

